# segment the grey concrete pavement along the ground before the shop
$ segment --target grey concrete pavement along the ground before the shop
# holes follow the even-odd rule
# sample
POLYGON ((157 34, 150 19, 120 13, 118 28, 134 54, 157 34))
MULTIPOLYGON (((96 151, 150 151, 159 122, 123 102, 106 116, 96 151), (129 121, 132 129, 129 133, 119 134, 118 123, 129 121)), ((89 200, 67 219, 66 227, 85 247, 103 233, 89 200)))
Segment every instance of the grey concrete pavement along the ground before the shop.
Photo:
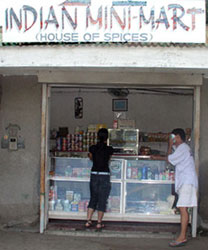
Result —
MULTIPOLYGON (((165 250, 171 249, 168 243, 173 239, 172 234, 140 233, 138 237, 110 237, 105 232, 85 234, 67 232, 46 232, 39 234, 35 231, 0 230, 0 250, 165 250), (58 234, 58 235, 57 235, 58 234)), ((208 237, 198 236, 190 239, 182 249, 205 250, 208 237)))

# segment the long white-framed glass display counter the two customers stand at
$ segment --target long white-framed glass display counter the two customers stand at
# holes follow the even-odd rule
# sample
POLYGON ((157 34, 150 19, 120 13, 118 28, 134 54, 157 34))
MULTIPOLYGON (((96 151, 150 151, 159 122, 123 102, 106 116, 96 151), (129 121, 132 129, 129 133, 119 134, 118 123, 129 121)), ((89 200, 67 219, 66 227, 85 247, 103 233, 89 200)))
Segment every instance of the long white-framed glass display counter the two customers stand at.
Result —
MULTIPOLYGON (((86 219, 92 162, 84 157, 51 157, 49 218, 86 219)), ((113 156, 111 193, 105 220, 179 222, 172 209, 174 172, 165 161, 113 156)))

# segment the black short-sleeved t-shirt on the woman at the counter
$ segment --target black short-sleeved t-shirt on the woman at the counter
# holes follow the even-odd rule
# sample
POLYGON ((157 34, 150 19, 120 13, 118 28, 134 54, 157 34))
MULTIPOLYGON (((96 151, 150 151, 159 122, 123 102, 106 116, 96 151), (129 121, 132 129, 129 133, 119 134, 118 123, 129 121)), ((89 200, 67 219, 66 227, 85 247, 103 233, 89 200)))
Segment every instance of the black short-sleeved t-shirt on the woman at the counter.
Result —
POLYGON ((110 172, 109 160, 113 154, 113 148, 103 143, 97 143, 89 148, 89 152, 92 154, 93 166, 91 171, 96 172, 110 172))

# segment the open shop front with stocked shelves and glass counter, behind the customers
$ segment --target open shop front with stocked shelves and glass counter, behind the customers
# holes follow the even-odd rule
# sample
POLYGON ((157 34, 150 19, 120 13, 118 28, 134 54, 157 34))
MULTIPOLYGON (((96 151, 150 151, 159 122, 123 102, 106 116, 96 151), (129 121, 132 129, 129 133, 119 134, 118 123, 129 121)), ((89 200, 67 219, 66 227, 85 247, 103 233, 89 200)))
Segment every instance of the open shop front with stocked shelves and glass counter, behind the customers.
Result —
POLYGON ((137 131, 138 136, 137 151, 112 158, 105 220, 178 223, 172 209, 172 170, 166 162, 139 156, 164 155, 169 133, 178 127, 185 129, 194 148, 194 97, 194 88, 51 86, 48 218, 86 219, 92 166, 87 153, 96 143, 96 131, 106 127, 137 131), (142 175, 144 167, 147 173, 142 175))

